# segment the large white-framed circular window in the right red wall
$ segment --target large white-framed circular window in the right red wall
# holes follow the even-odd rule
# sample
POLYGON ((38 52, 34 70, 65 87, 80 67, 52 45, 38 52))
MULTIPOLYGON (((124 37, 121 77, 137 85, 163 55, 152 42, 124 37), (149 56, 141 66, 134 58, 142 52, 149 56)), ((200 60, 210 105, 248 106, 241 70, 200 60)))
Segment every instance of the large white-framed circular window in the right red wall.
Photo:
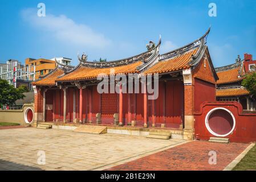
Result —
POLYGON ((235 117, 230 110, 216 107, 207 113, 205 126, 216 137, 226 137, 235 129, 235 117))

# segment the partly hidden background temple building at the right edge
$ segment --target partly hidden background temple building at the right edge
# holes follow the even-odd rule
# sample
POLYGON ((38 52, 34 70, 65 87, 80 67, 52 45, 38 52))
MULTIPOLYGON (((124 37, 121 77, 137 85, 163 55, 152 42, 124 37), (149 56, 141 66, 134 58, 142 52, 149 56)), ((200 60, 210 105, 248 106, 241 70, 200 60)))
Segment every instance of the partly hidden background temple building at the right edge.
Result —
POLYGON ((256 102, 250 93, 241 85, 246 73, 255 71, 256 60, 247 53, 244 59, 240 57, 234 64, 225 67, 215 68, 219 80, 217 81, 216 97, 218 101, 237 101, 243 110, 255 110, 256 102))

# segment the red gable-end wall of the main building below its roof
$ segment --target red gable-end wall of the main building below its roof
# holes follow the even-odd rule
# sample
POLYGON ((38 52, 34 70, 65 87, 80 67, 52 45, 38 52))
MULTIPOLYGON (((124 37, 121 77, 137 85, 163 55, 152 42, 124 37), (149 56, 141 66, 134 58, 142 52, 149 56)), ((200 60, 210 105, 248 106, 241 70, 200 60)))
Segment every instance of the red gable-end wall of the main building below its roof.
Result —
POLYGON ((194 110, 199 111, 205 101, 216 101, 216 86, 210 82, 194 79, 194 110))

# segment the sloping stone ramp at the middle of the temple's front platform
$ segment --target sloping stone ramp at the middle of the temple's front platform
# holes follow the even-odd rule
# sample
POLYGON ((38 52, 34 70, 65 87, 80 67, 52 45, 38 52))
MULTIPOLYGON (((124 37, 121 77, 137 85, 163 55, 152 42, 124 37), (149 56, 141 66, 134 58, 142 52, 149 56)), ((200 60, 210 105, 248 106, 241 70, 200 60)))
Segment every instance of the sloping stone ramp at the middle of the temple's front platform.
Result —
POLYGON ((81 125, 78 126, 74 132, 79 133, 91 133, 91 134, 103 134, 107 133, 106 126, 91 126, 91 125, 81 125))

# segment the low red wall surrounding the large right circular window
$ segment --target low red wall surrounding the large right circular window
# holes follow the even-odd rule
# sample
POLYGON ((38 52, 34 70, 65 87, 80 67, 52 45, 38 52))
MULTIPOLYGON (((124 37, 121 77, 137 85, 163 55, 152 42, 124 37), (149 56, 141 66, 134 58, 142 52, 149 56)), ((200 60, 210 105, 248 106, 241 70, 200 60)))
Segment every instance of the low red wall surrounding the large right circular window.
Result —
POLYGON ((194 113, 195 137, 208 140, 212 135, 205 126, 206 114, 213 108, 224 107, 233 113, 235 117, 235 129, 225 138, 230 142, 255 142, 256 141, 256 114, 242 113, 242 105, 238 102, 204 102, 200 111, 194 113))

